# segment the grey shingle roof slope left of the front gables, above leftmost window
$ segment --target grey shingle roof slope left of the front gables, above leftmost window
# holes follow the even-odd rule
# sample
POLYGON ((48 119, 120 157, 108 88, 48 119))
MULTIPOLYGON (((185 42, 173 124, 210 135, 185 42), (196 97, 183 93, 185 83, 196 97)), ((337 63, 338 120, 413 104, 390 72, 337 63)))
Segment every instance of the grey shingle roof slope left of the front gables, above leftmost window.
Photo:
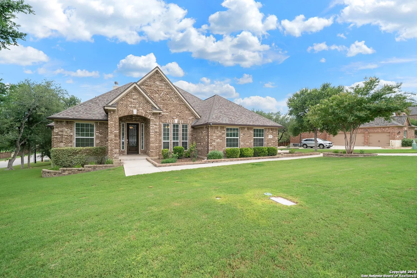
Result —
POLYGON ((62 112, 53 114, 48 119, 79 119, 79 120, 99 120, 107 121, 108 116, 103 110, 103 106, 108 104, 112 99, 121 94, 127 89, 133 82, 124 84, 109 92, 100 94, 97 97, 89 99, 85 102, 68 108, 62 112))

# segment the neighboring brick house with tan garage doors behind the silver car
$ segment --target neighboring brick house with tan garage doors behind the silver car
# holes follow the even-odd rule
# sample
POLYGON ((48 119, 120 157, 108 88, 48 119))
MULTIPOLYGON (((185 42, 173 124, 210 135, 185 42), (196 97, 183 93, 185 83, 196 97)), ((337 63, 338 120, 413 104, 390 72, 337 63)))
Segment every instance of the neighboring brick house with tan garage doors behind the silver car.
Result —
MULTIPOLYGON (((390 121, 376 118, 359 127, 355 146, 401 146, 402 139, 414 138, 415 128, 407 116, 391 117, 390 121)), ((305 138, 314 138, 314 133, 304 132, 299 136, 291 137, 291 146, 294 143, 300 144, 301 140, 305 138)), ((319 132, 317 138, 332 141, 334 146, 344 145, 343 132, 339 132, 336 136, 327 134, 327 132, 319 132)))

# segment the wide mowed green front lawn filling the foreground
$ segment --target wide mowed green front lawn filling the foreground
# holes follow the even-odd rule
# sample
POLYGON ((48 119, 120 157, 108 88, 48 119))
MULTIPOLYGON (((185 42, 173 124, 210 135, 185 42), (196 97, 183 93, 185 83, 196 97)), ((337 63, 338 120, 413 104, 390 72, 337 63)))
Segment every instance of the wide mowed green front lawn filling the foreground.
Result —
POLYGON ((42 167, 0 169, 0 276, 415 270, 415 161, 322 157, 130 177, 123 167, 55 178, 41 178, 42 167))

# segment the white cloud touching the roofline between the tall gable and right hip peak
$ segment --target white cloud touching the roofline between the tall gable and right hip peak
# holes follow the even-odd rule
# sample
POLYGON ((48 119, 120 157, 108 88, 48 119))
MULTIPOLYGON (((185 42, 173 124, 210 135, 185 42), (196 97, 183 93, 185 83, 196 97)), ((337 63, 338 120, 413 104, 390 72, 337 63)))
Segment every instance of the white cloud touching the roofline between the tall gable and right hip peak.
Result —
POLYGON ((174 82, 175 86, 180 87, 181 89, 200 97, 201 99, 206 99, 215 94, 218 94, 225 98, 239 97, 239 93, 236 92, 235 88, 224 81, 214 81, 211 83, 211 80, 208 78, 201 78, 201 82, 191 83, 184 80, 174 82))

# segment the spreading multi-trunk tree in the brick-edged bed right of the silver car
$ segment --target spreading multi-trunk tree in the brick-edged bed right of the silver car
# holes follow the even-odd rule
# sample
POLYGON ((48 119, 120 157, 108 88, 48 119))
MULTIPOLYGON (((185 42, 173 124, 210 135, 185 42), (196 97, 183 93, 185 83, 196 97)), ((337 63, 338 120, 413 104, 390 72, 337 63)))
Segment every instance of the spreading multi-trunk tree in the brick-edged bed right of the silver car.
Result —
POLYGON ((325 129, 329 134, 344 133, 345 150, 352 154, 356 135, 361 124, 377 117, 389 120, 394 112, 407 112, 411 95, 401 92, 401 83, 387 85, 378 89, 379 78, 370 77, 363 84, 350 87, 329 99, 323 99, 311 107, 306 114, 315 127, 325 129))

